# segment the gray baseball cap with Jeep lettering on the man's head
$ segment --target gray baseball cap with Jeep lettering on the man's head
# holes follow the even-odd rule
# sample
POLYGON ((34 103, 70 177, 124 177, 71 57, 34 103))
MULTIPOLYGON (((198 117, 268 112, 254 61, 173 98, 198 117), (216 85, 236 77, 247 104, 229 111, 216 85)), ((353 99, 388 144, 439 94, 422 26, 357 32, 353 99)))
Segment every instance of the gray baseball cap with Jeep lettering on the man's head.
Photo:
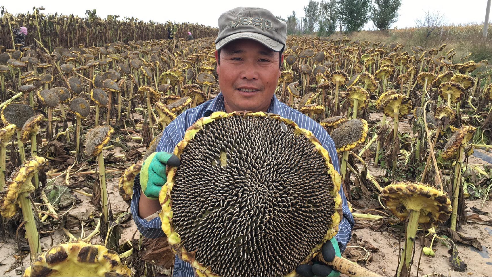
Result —
POLYGON ((224 12, 218 18, 215 48, 218 50, 240 38, 254 39, 278 52, 285 47, 287 24, 277 19, 269 10, 237 7, 224 12))

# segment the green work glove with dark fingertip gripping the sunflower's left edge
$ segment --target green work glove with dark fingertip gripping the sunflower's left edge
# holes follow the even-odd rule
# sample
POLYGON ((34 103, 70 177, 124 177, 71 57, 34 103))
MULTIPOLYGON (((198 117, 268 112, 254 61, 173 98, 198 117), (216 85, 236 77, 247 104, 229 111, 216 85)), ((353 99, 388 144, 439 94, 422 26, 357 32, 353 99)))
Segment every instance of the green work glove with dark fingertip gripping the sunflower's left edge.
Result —
POLYGON ((166 184, 166 164, 179 166, 180 159, 167 152, 154 152, 148 156, 140 171, 140 186, 145 196, 158 199, 162 185, 166 184))

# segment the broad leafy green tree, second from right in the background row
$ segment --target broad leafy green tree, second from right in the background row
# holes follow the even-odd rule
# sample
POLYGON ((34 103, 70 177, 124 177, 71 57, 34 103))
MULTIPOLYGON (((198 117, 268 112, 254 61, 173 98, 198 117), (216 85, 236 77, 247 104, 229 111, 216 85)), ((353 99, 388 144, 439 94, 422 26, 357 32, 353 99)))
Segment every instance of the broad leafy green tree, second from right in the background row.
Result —
POLYGON ((361 31, 369 21, 371 0, 337 0, 343 31, 361 31))

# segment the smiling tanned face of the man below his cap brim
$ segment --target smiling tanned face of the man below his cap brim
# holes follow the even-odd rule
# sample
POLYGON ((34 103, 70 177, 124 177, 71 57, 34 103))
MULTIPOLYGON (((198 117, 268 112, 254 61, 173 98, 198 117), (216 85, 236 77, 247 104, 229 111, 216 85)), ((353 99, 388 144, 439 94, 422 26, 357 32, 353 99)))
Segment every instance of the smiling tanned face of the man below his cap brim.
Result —
MULTIPOLYGON (((217 51, 215 59, 218 61, 217 51)), ((217 64, 225 111, 268 110, 280 77, 278 52, 252 39, 226 44, 217 64)))

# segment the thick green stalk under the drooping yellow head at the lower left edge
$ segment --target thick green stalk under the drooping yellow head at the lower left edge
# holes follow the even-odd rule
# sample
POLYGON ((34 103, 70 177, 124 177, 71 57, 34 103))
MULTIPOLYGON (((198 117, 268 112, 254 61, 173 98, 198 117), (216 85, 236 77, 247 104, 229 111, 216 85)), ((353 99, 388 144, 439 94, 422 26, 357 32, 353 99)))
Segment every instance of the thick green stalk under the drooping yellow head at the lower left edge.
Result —
POLYGON ((29 192, 23 192, 19 195, 19 204, 21 205, 23 220, 26 221, 24 227, 26 228, 26 237, 28 238, 32 261, 37 256, 37 253, 41 252, 41 246, 39 245, 39 234, 34 221, 34 214, 32 213, 29 192))

